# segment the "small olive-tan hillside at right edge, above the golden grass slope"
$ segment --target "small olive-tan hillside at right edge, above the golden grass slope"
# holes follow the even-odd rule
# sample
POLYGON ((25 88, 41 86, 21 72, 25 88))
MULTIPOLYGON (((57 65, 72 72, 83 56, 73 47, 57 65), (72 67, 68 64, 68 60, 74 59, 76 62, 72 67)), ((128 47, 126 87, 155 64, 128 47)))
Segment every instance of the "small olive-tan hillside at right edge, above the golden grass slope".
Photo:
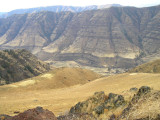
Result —
POLYGON ((160 73, 160 59, 155 60, 149 63, 145 63, 142 65, 139 65, 131 70, 129 72, 136 72, 136 73, 160 73))

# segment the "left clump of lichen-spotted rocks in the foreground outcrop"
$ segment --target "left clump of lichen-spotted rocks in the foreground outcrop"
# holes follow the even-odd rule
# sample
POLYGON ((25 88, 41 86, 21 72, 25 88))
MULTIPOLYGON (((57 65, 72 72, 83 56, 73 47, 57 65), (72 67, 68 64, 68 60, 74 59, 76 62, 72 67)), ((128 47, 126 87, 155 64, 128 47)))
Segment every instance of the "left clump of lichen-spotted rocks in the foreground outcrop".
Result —
POLYGON ((91 113, 94 116, 100 116, 104 110, 113 110, 120 106, 125 106, 125 100, 122 95, 110 93, 108 96, 103 91, 96 92, 88 100, 79 102, 70 109, 73 113, 91 113))

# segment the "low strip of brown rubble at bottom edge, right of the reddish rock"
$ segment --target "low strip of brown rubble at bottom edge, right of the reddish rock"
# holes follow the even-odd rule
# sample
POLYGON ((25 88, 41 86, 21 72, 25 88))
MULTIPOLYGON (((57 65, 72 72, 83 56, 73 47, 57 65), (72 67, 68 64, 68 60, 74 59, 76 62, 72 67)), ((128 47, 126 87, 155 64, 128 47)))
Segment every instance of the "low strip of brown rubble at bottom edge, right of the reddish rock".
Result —
POLYGON ((92 114, 69 114, 57 117, 58 120, 97 120, 92 114))

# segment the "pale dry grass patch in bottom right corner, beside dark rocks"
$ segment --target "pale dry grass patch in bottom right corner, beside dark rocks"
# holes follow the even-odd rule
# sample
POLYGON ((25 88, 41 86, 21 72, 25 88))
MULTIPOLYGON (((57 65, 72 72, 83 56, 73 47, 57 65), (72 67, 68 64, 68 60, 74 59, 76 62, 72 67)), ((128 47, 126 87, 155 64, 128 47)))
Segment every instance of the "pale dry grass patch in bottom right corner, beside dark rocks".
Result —
POLYGON ((149 117, 149 120, 152 120, 158 114, 160 114, 160 91, 152 90, 132 104, 126 119, 135 120, 149 117))

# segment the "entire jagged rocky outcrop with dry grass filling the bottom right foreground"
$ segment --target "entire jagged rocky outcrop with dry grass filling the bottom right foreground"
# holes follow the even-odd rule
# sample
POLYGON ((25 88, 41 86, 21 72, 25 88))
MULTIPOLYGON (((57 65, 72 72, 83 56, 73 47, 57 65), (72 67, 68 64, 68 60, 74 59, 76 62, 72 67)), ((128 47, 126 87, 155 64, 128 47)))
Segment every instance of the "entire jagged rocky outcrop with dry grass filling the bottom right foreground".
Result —
POLYGON ((160 91, 142 86, 139 89, 131 88, 128 95, 96 92, 86 101, 73 106, 69 113, 93 114, 98 120, 159 120, 160 91), (133 92, 135 94, 132 96, 130 93, 133 92))

